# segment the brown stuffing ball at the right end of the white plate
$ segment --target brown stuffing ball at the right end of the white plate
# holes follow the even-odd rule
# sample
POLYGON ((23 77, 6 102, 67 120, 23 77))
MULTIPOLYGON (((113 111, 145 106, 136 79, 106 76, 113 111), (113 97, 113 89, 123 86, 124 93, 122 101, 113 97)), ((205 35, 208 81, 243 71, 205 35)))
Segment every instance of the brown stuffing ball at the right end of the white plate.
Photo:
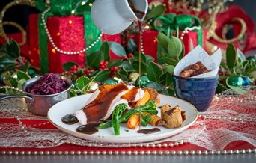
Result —
POLYGON ((185 111, 181 111, 180 106, 171 108, 170 105, 163 105, 161 107, 161 117, 165 120, 165 127, 173 129, 182 126, 183 121, 186 119, 185 111))

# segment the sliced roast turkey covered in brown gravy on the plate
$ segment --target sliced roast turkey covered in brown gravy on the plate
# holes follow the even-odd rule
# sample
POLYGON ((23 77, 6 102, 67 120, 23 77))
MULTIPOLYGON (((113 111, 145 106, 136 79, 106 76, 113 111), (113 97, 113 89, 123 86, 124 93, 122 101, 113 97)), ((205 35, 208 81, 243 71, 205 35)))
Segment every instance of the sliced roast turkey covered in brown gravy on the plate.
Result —
POLYGON ((106 84, 99 87, 85 107, 76 111, 76 117, 83 125, 108 119, 118 104, 126 103, 128 109, 144 96, 144 90, 125 84, 106 84))

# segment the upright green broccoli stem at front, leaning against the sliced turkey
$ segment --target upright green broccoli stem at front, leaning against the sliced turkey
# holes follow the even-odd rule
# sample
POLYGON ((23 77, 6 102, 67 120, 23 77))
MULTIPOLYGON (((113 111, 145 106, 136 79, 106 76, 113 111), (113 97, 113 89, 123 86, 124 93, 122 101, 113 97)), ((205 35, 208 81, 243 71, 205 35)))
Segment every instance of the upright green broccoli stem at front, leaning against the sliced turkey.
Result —
POLYGON ((120 135, 120 122, 123 112, 127 109, 127 104, 122 103, 115 107, 115 110, 112 112, 112 126, 114 128, 115 135, 120 135))

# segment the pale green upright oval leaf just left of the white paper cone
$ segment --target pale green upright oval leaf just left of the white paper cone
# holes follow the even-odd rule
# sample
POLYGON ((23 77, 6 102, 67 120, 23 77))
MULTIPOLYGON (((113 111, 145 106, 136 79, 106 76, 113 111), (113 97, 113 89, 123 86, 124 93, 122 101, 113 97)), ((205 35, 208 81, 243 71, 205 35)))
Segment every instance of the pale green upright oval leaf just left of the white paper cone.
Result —
POLYGON ((178 58, 183 50, 183 43, 177 37, 171 37, 168 43, 168 54, 171 57, 178 58))

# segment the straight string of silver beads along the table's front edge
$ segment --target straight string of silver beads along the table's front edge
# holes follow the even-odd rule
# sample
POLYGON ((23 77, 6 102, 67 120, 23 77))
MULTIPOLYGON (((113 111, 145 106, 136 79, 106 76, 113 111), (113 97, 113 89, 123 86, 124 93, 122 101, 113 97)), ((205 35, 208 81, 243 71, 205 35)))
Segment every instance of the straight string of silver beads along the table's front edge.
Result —
POLYGON ((1 151, 0 155, 232 155, 232 154, 245 154, 256 153, 254 149, 242 149, 242 150, 171 150, 171 151, 1 151))

